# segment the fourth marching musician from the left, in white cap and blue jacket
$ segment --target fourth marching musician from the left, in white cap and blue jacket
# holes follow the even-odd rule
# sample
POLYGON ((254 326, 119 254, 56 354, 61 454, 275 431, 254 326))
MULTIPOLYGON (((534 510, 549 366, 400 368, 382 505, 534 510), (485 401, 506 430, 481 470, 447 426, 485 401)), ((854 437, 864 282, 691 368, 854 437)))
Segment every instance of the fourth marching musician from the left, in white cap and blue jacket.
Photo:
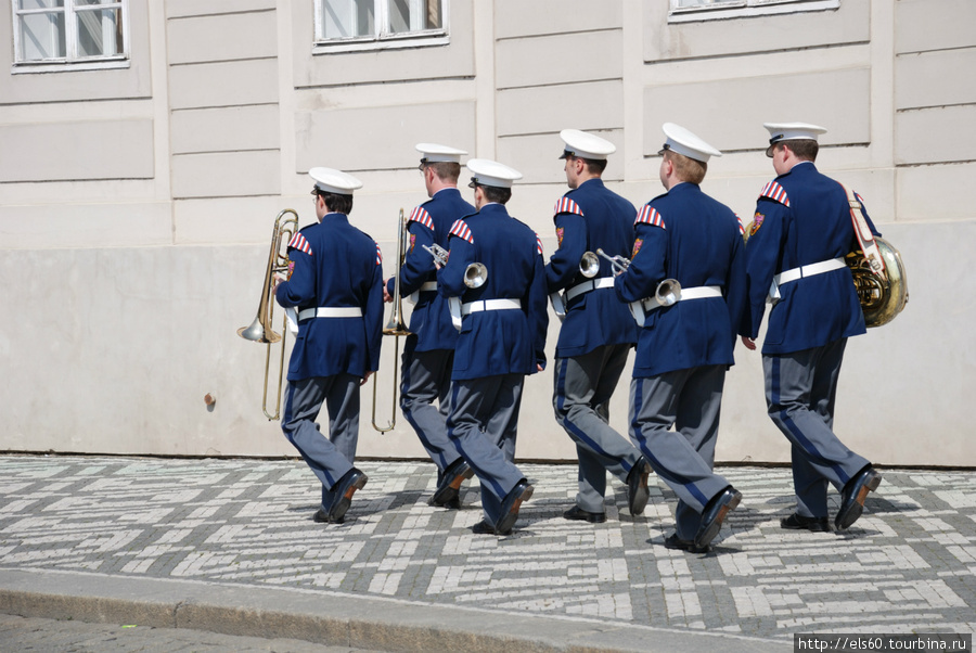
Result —
POLYGON ((647 504, 651 465, 640 450, 614 431, 609 400, 637 343, 638 328, 627 306, 614 293, 611 265, 600 260, 595 278, 580 271, 587 252, 629 255, 633 247, 633 205, 606 188, 602 175, 616 146, 576 129, 560 132, 563 170, 569 192, 553 215, 558 247, 545 266, 545 282, 558 310, 565 312, 556 343, 553 409, 560 425, 576 444, 579 491, 567 520, 606 521, 603 507, 606 472, 628 488, 630 514, 647 504))

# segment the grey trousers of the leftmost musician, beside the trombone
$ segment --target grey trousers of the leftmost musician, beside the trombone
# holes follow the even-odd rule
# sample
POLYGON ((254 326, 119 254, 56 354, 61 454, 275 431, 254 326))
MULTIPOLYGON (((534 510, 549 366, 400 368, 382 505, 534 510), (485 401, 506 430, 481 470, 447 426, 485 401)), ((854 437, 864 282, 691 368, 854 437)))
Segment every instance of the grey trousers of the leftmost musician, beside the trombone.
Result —
POLYGON ((332 487, 352 469, 359 441, 359 376, 336 374, 290 381, 281 430, 322 483, 322 508, 332 507, 332 487), (329 437, 316 419, 322 404, 329 437))

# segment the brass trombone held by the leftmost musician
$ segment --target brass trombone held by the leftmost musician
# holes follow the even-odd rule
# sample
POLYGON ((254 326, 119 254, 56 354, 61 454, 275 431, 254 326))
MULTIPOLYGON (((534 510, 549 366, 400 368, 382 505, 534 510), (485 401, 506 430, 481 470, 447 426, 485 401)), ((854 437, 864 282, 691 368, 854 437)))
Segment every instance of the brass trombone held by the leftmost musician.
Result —
POLYGON ((288 270, 287 245, 297 228, 298 214, 294 209, 286 208, 274 218, 274 228, 271 232, 271 251, 268 254, 268 266, 265 269, 265 284, 261 289, 257 317, 254 318, 254 322, 249 326, 237 329, 237 335, 244 340, 268 345, 265 353, 265 389, 261 410, 269 420, 277 420, 281 417, 281 388, 284 382, 285 330, 287 328, 287 318, 285 317, 282 318, 281 335, 271 330, 271 322, 274 316, 274 297, 271 296, 271 289, 274 287, 274 274, 279 272, 286 273, 288 270), (291 214, 291 217, 286 217, 286 214, 291 214), (284 254, 281 253, 282 244, 285 247, 284 254), (268 412, 268 379, 271 371, 271 345, 279 342, 281 343, 281 356, 278 363, 278 402, 272 414, 268 412))

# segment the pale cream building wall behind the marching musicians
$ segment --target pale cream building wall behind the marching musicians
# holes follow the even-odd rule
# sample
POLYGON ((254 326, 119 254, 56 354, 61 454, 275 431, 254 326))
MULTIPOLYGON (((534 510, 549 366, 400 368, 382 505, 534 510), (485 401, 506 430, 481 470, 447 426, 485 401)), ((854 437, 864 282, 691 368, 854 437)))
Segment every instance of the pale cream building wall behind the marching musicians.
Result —
MULTIPOLYGON (((865 197, 912 289, 897 320, 850 342, 837 431, 882 464, 976 464, 962 408, 976 389, 976 5, 840 0, 689 23, 667 5, 453 0, 447 46, 314 53, 311 2, 130 0, 128 68, 13 74, 0 48, 0 450, 294 454, 260 412, 264 347, 235 330, 254 318, 274 216, 313 219, 312 166, 363 180, 352 220, 390 273, 397 213, 425 200, 416 142, 519 169, 510 210, 551 253, 561 129, 616 143, 605 179, 639 205, 662 192, 660 124, 680 123, 725 152, 703 188, 748 220, 774 175, 762 123, 805 120, 830 129, 818 166, 865 197)), ((736 359, 717 458, 788 460, 759 356, 736 359)), ((575 456, 551 388, 550 372, 527 382, 522 458, 575 456)), ((369 390, 360 454, 422 458, 402 418, 370 428, 369 390)))

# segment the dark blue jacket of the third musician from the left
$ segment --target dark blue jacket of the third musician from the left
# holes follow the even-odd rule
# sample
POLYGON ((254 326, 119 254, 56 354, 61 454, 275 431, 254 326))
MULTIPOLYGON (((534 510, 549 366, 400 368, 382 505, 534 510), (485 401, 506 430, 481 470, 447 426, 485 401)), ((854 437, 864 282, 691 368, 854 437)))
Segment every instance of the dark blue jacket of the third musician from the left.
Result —
POLYGON ((450 258, 437 273, 437 291, 462 303, 515 299, 522 310, 486 310, 463 319, 454 348, 452 379, 497 374, 531 374, 545 364, 549 324, 544 266, 535 231, 509 216, 501 204, 459 220, 451 228, 450 258), (468 264, 481 263, 488 281, 479 289, 464 285, 468 264))

